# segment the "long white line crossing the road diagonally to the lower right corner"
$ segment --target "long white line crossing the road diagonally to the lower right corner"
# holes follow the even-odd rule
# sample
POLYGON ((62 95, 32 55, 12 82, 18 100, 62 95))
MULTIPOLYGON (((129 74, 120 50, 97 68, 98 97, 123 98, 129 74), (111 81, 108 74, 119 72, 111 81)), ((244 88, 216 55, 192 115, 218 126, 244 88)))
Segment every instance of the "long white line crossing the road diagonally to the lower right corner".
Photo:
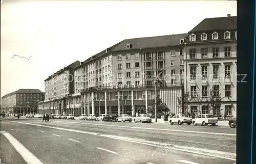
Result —
MULTIPOLYGON (((81 130, 65 129, 65 128, 60 128, 60 127, 32 124, 32 123, 27 123, 27 122, 17 122, 17 121, 12 121, 12 122, 27 124, 27 125, 34 125, 34 126, 41 126, 41 127, 48 127, 48 128, 58 129, 58 130, 66 130, 66 131, 73 131, 73 132, 79 132, 79 133, 85 133, 85 134, 98 135, 98 133, 81 131, 81 130)), ((133 140, 121 139, 121 138, 117 138, 117 136, 110 136, 110 135, 106 135, 106 134, 101 134, 101 135, 98 135, 98 136, 104 136, 106 138, 111 138, 111 139, 115 139, 115 140, 133 142, 133 143, 137 143, 137 144, 149 145, 149 146, 159 147, 159 148, 164 148, 164 149, 169 149, 169 150, 177 150, 177 151, 188 152, 188 153, 192 153, 192 154, 199 154, 199 155, 204 155, 204 156, 211 156, 211 157, 223 158, 223 159, 229 159, 229 160, 236 161, 236 159, 234 159, 234 158, 229 158, 229 157, 224 157, 224 156, 219 156, 219 155, 213 155, 213 154, 210 154, 210 153, 206 154, 206 153, 195 152, 193 150, 186 150, 186 149, 182 149, 182 148, 172 148, 172 147, 166 147, 166 146, 160 146, 160 145, 153 145, 153 144, 150 144, 150 143, 143 143, 143 142, 137 142, 137 141, 133 141, 133 140)))

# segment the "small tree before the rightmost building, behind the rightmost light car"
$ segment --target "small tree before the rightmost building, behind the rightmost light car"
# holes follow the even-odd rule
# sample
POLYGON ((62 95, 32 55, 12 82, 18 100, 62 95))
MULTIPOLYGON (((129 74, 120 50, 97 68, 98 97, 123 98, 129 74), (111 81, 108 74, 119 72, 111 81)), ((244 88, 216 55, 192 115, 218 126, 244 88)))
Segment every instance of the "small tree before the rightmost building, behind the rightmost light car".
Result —
POLYGON ((214 90, 214 88, 211 88, 209 92, 209 97, 207 98, 207 101, 210 102, 209 112, 210 110, 212 110, 212 114, 215 115, 217 109, 222 111, 221 102, 223 98, 224 97, 221 97, 221 93, 219 93, 219 91, 214 90))

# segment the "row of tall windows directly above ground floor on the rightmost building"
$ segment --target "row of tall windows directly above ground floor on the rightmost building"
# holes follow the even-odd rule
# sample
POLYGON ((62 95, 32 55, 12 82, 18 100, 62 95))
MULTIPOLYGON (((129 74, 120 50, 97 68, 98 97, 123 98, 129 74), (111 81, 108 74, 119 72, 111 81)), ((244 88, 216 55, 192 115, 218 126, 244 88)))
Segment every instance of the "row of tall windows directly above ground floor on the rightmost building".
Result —
MULTIPOLYGON (((213 86, 213 96, 220 96, 220 86, 219 85, 214 85, 213 86)), ((198 92, 197 92, 197 87, 196 86, 190 86, 190 92, 191 92, 191 97, 197 97, 198 92)), ((202 86, 202 97, 209 97, 209 91, 208 91, 208 86, 202 86)), ((231 97, 231 85, 225 85, 225 96, 226 97, 231 97)))

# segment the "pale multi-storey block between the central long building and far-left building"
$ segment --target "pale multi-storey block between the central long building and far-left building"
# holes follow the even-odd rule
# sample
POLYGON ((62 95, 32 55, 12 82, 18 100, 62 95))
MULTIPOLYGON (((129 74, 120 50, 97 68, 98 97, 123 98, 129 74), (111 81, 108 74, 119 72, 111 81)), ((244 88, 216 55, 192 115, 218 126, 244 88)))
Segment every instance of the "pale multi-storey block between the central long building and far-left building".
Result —
POLYGON ((46 100, 39 102, 40 113, 46 110, 46 113, 57 114, 66 110, 66 97, 74 93, 73 69, 80 64, 81 62, 76 61, 45 79, 46 100))

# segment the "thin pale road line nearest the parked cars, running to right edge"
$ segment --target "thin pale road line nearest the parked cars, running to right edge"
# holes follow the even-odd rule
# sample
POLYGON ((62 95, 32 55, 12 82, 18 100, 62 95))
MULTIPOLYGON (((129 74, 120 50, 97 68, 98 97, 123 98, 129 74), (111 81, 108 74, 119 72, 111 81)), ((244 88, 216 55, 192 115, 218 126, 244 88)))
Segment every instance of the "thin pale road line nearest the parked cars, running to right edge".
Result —
MULTIPOLYGON (((63 123, 63 121, 53 121, 53 122, 62 122, 62 123, 63 123)), ((66 123, 66 122, 65 122, 65 123, 66 123)), ((124 127, 124 128, 134 128, 134 129, 149 129, 149 130, 177 131, 177 132, 189 132, 189 133, 201 133, 201 134, 215 134, 215 135, 237 136, 237 134, 230 134, 230 133, 216 133, 216 132, 188 131, 188 130, 174 130, 174 129, 159 129, 159 128, 134 127, 134 126, 92 124, 92 123, 81 123, 81 122, 68 122, 68 123, 87 124, 87 125, 99 125, 99 126, 112 126, 112 127, 124 127)))

